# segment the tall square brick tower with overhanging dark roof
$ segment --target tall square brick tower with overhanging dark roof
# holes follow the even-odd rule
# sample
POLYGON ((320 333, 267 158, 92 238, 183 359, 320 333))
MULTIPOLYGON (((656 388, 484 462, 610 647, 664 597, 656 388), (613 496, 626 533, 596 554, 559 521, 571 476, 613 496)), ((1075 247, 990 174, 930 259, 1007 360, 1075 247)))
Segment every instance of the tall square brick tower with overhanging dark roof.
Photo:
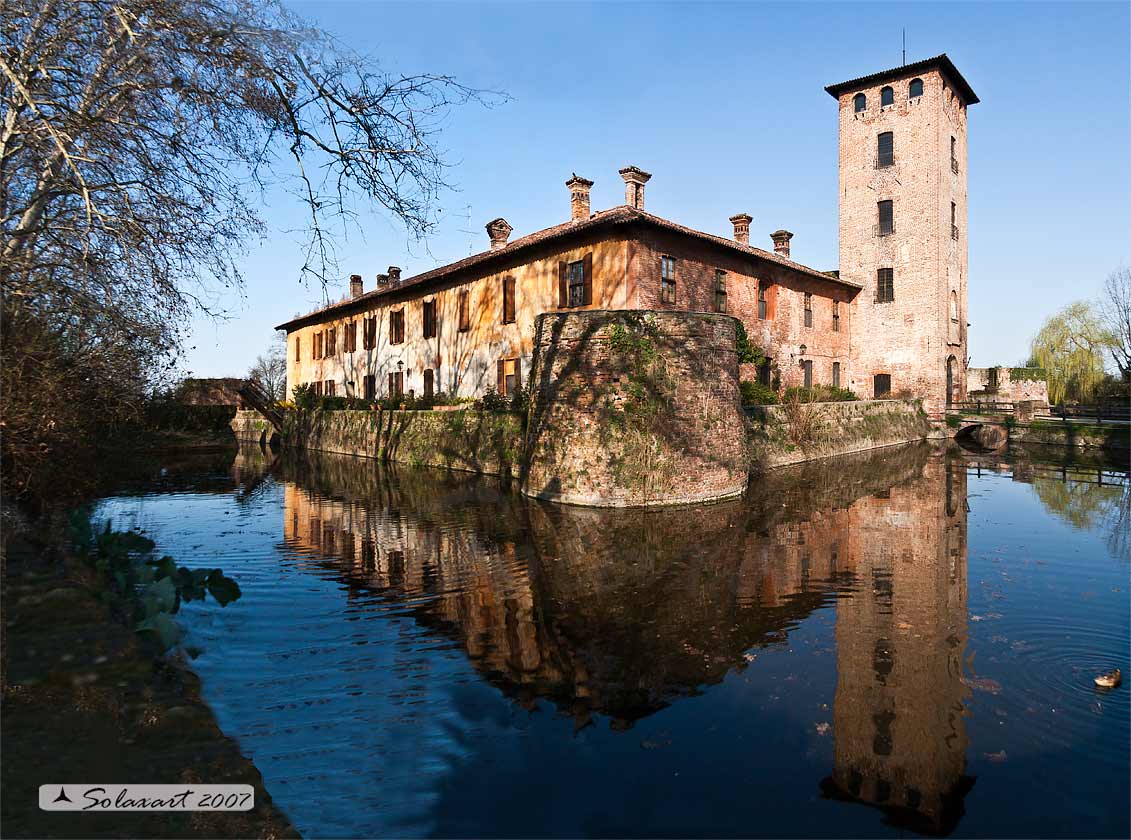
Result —
POLYGON ((840 277, 853 304, 851 388, 966 393, 966 109, 978 101, 950 59, 826 88, 839 106, 840 277))

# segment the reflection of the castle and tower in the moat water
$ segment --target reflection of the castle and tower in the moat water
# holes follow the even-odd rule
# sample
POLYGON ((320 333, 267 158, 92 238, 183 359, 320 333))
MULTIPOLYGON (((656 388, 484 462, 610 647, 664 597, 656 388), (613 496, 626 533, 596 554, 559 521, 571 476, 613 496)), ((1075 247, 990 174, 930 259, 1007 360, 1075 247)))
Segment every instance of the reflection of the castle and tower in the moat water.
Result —
POLYGON ((924 833, 961 814, 966 480, 925 447, 775 470, 746 499, 604 511, 458 474, 284 465, 284 537, 396 601, 520 704, 631 727, 836 609, 822 793, 924 833), (835 606, 834 606, 835 605, 835 606))

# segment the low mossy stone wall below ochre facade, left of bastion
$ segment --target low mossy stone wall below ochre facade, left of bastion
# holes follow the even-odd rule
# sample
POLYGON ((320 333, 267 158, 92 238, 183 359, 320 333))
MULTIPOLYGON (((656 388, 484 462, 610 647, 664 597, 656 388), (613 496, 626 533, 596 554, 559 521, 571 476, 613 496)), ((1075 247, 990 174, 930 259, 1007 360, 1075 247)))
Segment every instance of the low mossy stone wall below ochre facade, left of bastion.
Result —
POLYGON ((508 477, 517 473, 523 423, 486 412, 287 412, 288 445, 508 477))

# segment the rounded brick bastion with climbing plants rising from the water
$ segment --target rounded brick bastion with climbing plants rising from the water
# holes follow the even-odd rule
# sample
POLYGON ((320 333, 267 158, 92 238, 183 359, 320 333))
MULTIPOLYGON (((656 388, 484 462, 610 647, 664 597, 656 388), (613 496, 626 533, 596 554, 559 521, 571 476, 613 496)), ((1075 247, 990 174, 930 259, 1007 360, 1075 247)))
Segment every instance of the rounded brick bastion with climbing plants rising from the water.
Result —
POLYGON ((538 315, 523 493, 610 508, 740 495, 736 326, 702 312, 538 315))

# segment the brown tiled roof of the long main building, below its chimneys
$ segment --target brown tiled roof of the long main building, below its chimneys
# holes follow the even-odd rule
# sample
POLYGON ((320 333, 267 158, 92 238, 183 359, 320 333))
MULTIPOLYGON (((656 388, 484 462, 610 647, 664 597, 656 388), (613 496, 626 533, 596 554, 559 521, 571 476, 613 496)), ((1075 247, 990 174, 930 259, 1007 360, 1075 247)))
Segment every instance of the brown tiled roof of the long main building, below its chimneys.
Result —
POLYGON ((620 207, 612 207, 607 210, 598 210, 584 222, 563 222, 560 225, 546 227, 542 231, 527 234, 526 236, 519 236, 517 240, 509 242, 503 248, 493 251, 481 251, 480 253, 472 254, 470 257, 465 257, 461 260, 449 262, 447 266, 433 268, 431 271, 424 271, 423 274, 418 274, 413 277, 406 277, 400 283, 390 283, 374 288, 372 292, 359 295, 357 297, 349 297, 345 301, 331 303, 327 306, 322 306, 321 309, 317 309, 313 312, 308 312, 304 315, 293 318, 285 323, 280 323, 275 329, 295 329, 296 327, 318 321, 325 315, 331 313, 345 314, 346 312, 365 309, 366 305, 375 298, 399 294, 405 289, 412 289, 416 286, 426 286, 433 280, 440 280, 465 269, 480 266, 481 263, 503 262, 519 251, 524 251, 555 239, 572 236, 573 234, 594 231, 599 227, 632 223, 654 225, 655 227, 666 231, 673 231, 685 236, 692 236, 694 239, 726 248, 731 251, 756 257, 767 262, 774 262, 784 268, 797 271, 798 274, 824 280, 826 283, 836 283, 854 289, 861 288, 858 284, 849 283, 848 280, 844 280, 838 277, 831 277, 824 271, 818 271, 809 266, 794 262, 793 260, 788 260, 780 254, 774 253, 772 251, 766 251, 761 248, 754 248, 753 245, 743 245, 734 240, 728 240, 724 236, 716 236, 711 233, 703 233, 702 231, 696 231, 694 228, 685 227, 684 225, 676 224, 675 222, 662 218, 661 216, 654 216, 650 213, 638 210, 634 207, 621 205, 620 207))

